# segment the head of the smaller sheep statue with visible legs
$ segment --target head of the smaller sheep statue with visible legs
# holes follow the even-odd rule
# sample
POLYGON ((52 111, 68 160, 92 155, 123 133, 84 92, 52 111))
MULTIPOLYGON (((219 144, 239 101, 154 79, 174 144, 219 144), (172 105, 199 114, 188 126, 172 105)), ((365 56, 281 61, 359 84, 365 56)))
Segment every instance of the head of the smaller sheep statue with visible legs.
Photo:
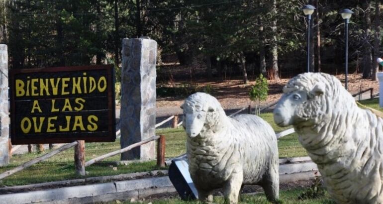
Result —
POLYGON ((222 128, 218 120, 224 118, 220 115, 225 115, 225 111, 220 103, 208 94, 192 94, 181 108, 184 109, 183 126, 191 138, 198 135, 203 137, 222 128))

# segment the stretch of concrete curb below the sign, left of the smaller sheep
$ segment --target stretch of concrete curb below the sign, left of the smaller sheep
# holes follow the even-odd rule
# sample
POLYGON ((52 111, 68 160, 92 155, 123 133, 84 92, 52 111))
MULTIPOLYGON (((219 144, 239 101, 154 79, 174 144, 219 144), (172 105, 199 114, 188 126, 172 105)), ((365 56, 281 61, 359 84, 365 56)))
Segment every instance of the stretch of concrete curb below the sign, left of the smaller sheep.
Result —
POLYGON ((74 186, 44 191, 31 191, 0 196, 0 204, 70 204, 127 200, 174 192, 168 177, 121 181, 87 186, 74 186))

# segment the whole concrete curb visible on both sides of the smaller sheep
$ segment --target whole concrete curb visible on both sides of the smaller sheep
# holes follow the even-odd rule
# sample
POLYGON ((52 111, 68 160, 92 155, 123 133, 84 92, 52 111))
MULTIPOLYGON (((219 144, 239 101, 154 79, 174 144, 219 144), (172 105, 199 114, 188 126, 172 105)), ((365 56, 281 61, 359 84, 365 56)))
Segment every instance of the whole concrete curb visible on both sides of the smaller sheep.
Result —
MULTIPOLYGON (((294 158, 280 165, 280 183, 314 179, 317 167, 307 158, 294 158), (303 162, 305 161, 305 162, 303 162)), ((50 190, 0 195, 0 204, 75 204, 108 202, 113 200, 142 199, 148 196, 176 192, 169 177, 155 177, 117 181, 86 186, 64 187, 50 190)))

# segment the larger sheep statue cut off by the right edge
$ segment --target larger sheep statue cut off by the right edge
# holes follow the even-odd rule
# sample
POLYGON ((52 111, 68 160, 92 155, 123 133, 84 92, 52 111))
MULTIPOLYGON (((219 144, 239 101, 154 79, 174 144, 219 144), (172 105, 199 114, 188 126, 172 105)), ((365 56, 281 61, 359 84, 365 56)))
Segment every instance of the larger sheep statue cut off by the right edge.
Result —
POLYGON ((274 121, 294 127, 330 196, 339 204, 382 204, 382 118, 359 108, 328 74, 300 74, 283 92, 274 121))

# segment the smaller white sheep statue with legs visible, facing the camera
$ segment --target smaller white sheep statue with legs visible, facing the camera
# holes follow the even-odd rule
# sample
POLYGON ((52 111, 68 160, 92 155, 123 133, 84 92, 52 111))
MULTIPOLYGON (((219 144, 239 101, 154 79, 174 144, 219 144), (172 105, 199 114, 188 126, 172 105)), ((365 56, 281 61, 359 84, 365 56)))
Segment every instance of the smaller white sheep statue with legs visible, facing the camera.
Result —
POLYGON ((245 184, 260 185, 269 201, 279 198, 279 159, 273 128, 256 115, 227 117, 220 103, 205 93, 182 105, 187 158, 199 200, 211 203, 223 187, 225 203, 236 204, 245 184))

